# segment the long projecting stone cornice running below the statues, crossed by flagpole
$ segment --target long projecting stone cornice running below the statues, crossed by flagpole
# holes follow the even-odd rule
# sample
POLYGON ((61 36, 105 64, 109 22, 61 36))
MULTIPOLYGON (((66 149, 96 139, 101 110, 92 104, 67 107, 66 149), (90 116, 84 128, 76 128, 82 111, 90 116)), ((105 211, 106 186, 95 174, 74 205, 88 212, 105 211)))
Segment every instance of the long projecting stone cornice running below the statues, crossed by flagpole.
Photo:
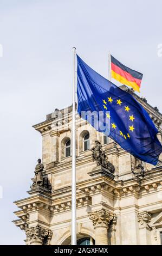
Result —
MULTIPOLYGON (((95 178, 90 178, 85 181, 77 182, 76 194, 77 199, 92 196, 94 193, 100 193, 105 190, 113 193, 116 196, 127 196, 130 193, 146 193, 156 191, 158 187, 161 188, 162 177, 160 168, 154 169, 153 172, 148 172, 141 179, 139 177, 134 177, 126 181, 122 180, 113 180, 107 176, 99 176, 95 178), (153 176, 151 177, 151 174, 153 176), (83 192, 83 193, 82 193, 83 192)), ((22 208, 23 211, 27 211, 31 208, 37 208, 40 204, 46 204, 49 206, 55 205, 55 202, 70 202, 71 198, 71 186, 67 188, 60 188, 59 190, 54 190, 50 198, 43 197, 40 194, 30 196, 14 202, 19 208, 22 208), (26 206, 28 205, 28 207, 26 206)), ((27 211, 28 212, 28 211, 27 211)), ((17 212, 15 212, 17 214, 17 212)), ((18 211, 18 215, 21 215, 21 212, 18 211)))

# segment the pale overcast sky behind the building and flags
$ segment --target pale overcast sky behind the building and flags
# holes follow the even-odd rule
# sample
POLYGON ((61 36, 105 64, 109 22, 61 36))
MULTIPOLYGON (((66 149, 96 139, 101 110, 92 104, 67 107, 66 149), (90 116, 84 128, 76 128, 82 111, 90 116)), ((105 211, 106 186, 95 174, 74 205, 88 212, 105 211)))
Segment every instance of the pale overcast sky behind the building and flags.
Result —
POLYGON ((0 0, 1 245, 24 244, 12 202, 28 196, 42 154, 31 126, 72 105, 73 46, 106 78, 109 50, 144 74, 140 95, 162 111, 161 10, 160 0, 0 0))

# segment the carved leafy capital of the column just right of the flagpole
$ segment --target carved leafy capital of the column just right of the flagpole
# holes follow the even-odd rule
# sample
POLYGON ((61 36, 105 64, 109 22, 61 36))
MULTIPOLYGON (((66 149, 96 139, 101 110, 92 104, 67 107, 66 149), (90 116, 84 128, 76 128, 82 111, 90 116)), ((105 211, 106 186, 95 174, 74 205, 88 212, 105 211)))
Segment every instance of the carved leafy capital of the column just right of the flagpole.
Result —
POLYGON ((94 228, 97 227, 109 227, 111 221, 113 221, 114 215, 108 210, 101 209, 99 211, 89 212, 89 219, 92 220, 94 228))

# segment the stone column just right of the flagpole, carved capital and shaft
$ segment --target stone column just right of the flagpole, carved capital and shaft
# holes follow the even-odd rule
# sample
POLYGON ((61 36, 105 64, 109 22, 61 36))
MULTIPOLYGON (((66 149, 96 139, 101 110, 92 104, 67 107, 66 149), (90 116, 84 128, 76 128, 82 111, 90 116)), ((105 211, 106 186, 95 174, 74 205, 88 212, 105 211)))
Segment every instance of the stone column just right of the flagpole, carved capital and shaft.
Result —
POLYGON ((108 245, 107 230, 113 220, 113 214, 108 210, 101 209, 90 212, 88 215, 95 229, 95 245, 108 245))

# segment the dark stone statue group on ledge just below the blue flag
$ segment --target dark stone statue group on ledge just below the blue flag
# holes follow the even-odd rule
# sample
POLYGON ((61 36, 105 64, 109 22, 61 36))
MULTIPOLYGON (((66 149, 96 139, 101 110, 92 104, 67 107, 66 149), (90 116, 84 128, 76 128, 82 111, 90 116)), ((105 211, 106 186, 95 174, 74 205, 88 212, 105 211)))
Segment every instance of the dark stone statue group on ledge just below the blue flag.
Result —
POLYGON ((115 167, 108 161, 108 157, 103 152, 102 145, 99 141, 95 141, 95 146, 90 150, 92 151, 93 161, 96 161, 97 166, 102 166, 108 169, 109 172, 114 173, 115 167))

